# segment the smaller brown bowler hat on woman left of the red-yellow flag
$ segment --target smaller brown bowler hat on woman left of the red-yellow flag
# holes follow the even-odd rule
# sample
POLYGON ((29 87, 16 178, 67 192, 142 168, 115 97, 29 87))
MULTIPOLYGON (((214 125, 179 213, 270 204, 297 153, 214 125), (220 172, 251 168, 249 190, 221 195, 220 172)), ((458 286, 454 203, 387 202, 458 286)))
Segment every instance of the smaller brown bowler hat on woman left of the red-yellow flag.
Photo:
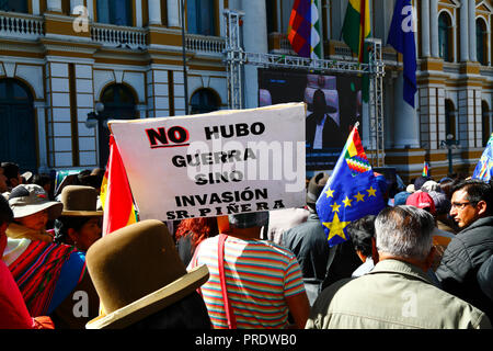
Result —
POLYGON ((98 208, 98 191, 92 186, 67 185, 61 191, 62 216, 102 216, 98 208))

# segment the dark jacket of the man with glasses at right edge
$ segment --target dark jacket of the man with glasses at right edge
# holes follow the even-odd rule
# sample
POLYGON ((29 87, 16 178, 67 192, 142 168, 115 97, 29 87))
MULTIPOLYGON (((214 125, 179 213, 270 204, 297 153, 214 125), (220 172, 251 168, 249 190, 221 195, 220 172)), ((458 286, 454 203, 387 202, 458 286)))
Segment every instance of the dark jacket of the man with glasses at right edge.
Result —
POLYGON ((480 218, 448 245, 436 275, 442 287, 483 310, 491 318, 492 301, 479 286, 477 274, 493 253, 493 216, 480 218))

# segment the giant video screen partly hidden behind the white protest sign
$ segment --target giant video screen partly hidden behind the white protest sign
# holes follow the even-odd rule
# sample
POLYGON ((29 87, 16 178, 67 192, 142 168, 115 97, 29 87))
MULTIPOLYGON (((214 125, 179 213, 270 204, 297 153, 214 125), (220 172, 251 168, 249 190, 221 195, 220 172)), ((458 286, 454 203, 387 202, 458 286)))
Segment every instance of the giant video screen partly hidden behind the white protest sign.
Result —
POLYGON ((355 75, 259 69, 259 106, 306 102, 307 171, 331 170, 362 123, 360 87, 355 75))

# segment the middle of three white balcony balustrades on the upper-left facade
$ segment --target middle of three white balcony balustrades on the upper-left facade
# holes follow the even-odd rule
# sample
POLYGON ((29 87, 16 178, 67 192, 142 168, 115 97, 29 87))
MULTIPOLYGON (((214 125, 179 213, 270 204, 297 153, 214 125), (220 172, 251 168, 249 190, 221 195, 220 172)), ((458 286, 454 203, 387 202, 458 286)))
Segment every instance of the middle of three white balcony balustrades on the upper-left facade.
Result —
POLYGON ((106 46, 121 48, 147 47, 147 33, 144 29, 93 23, 91 39, 106 46))

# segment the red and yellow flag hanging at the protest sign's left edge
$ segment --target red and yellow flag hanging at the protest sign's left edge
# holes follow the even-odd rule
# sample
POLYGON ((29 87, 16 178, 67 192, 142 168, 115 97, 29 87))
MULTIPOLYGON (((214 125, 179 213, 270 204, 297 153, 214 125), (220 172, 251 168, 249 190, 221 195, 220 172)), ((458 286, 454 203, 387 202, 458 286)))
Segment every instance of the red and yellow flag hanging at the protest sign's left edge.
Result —
POLYGON ((110 158, 101 185, 101 203, 103 236, 137 222, 127 173, 113 135, 110 135, 110 158))

